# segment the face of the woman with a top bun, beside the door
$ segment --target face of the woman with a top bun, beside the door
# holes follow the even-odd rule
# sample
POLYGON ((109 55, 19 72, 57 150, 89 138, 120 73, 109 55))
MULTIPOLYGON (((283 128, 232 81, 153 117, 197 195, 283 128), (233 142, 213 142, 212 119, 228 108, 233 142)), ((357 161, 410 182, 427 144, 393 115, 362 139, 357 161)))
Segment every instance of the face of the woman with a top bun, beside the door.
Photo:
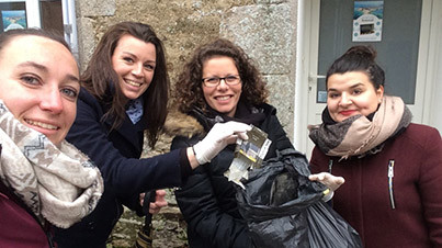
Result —
POLYGON ((384 95, 384 88, 375 89, 369 76, 362 71, 333 74, 327 81, 327 108, 336 122, 377 110, 384 95))

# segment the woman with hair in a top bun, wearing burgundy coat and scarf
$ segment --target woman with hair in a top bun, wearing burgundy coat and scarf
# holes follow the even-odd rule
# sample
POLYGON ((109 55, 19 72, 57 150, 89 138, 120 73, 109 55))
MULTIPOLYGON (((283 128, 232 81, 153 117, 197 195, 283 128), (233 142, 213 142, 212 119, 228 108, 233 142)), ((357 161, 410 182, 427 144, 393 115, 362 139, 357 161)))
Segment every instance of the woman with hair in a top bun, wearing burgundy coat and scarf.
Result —
POLYGON ((329 68, 322 124, 309 126, 311 172, 345 179, 333 208, 364 247, 442 247, 441 136, 384 94, 375 56, 355 46, 329 68))

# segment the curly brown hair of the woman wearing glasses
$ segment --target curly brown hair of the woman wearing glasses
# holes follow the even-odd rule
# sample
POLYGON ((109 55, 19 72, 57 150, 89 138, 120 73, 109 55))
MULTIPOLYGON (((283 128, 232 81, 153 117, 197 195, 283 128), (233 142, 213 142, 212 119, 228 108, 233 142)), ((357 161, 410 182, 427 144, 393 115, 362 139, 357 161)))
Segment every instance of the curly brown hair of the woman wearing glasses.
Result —
POLYGON ((227 56, 234 59, 242 82, 239 101, 248 105, 267 102, 269 91, 258 68, 241 47, 228 40, 217 38, 195 49, 189 63, 184 65, 174 87, 174 105, 179 111, 189 113, 193 108, 207 111, 207 103, 202 89, 203 65, 215 56, 227 56))

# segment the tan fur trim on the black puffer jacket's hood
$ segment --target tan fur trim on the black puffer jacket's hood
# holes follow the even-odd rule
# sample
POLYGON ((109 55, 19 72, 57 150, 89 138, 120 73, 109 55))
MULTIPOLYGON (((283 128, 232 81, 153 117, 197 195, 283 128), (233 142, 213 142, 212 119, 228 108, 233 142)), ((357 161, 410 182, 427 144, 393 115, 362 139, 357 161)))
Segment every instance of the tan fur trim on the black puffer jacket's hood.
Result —
POLYGON ((194 135, 205 133, 204 127, 195 117, 184 114, 178 110, 172 110, 169 112, 168 117, 166 119, 163 131, 170 136, 184 136, 189 138, 194 135))

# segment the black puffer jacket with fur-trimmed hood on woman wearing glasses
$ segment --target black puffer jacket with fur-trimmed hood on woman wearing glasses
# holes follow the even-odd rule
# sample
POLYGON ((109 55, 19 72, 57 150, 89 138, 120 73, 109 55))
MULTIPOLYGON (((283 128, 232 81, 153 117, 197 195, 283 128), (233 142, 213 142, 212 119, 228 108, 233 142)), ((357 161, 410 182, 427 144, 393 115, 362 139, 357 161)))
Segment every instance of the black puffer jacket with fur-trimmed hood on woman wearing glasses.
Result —
MULTIPOLYGON (((269 134, 272 144, 265 159, 276 156, 276 149, 293 147, 277 117, 276 110, 262 104, 258 108, 265 114, 258 125, 269 134)), ((202 138, 211 128, 211 122, 203 115, 194 116, 174 113, 167 123, 169 134, 175 135, 171 149, 189 147, 202 138), (204 131, 203 131, 204 126, 204 131), (174 132, 171 133, 171 129, 174 132)), ((188 223, 188 238, 191 247, 252 247, 246 222, 238 212, 236 189, 224 172, 234 159, 234 145, 222 150, 207 165, 200 166, 184 182, 175 196, 188 223)))

